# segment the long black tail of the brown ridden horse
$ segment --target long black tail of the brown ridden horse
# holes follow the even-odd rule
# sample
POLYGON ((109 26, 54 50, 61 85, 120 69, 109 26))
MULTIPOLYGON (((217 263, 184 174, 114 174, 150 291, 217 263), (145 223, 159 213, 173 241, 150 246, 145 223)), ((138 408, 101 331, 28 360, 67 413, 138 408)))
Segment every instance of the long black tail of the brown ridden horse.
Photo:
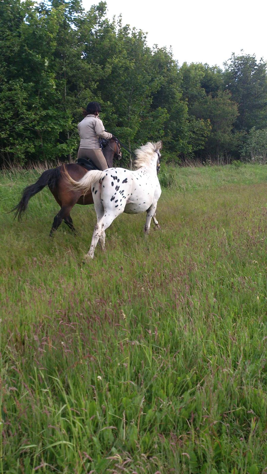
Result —
POLYGON ((60 176, 59 168, 53 168, 51 170, 46 170, 41 174, 36 183, 30 184, 27 188, 24 189, 22 193, 21 200, 10 212, 15 211, 15 217, 18 217, 18 220, 21 220, 23 214, 26 212, 28 207, 28 202, 32 196, 41 191, 45 186, 54 187, 57 183, 57 180, 60 176))

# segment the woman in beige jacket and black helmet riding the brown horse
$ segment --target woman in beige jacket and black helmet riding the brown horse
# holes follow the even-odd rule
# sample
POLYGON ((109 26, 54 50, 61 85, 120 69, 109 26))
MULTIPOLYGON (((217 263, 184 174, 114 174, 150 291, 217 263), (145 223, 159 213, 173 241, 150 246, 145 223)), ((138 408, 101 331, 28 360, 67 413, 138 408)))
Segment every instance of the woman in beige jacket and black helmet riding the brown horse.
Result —
POLYGON ((77 158, 90 159, 99 170, 103 171, 108 168, 108 165, 100 148, 99 138, 108 140, 113 135, 105 131, 99 112, 101 112, 99 103, 89 102, 85 111, 86 116, 78 124, 80 146, 77 158))

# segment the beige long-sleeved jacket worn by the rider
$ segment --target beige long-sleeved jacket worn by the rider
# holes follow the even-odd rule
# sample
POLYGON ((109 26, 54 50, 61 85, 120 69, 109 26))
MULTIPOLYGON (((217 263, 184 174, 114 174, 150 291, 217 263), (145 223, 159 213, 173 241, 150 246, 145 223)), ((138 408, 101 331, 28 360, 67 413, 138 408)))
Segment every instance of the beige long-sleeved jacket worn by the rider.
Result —
POLYGON ((99 137, 112 138, 112 133, 105 132, 102 120, 94 114, 86 115, 78 123, 78 131, 81 139, 80 148, 100 148, 99 137))

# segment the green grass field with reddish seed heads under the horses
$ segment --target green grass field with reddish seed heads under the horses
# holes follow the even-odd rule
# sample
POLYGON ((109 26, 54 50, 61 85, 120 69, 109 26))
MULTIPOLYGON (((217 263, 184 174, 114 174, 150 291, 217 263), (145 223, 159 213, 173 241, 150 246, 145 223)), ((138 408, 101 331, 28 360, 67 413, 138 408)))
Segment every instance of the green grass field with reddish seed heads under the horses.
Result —
POLYGON ((0 474, 267 473, 267 167, 172 173, 162 230, 120 216, 84 266, 94 208, 51 241, 2 173, 0 474))

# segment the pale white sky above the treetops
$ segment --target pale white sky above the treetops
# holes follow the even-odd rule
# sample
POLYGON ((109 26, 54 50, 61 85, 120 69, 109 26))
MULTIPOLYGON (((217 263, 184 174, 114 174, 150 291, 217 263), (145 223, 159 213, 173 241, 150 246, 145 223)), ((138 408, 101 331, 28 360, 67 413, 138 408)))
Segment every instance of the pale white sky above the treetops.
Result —
MULTIPOLYGON (((149 46, 172 46, 174 59, 218 64, 231 53, 267 59, 267 1, 106 0, 108 18, 120 13, 123 25, 148 32, 149 46)), ((98 0, 83 0, 85 9, 98 0)))

